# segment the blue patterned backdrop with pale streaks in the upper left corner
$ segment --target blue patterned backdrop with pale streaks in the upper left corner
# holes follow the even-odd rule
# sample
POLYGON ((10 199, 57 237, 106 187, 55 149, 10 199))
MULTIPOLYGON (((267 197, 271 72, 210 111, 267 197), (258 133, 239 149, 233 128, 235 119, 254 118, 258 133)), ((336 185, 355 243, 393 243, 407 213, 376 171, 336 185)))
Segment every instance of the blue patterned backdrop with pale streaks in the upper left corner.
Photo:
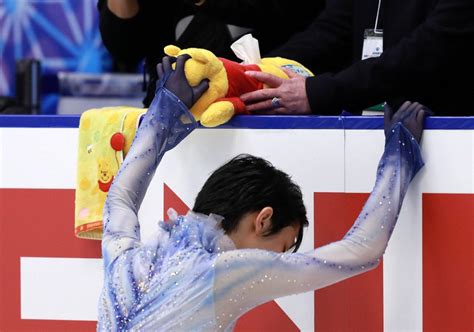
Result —
POLYGON ((112 61, 102 45, 97 0, 0 0, 0 95, 15 95, 15 61, 42 66, 42 113, 54 114, 59 71, 100 73, 112 61))

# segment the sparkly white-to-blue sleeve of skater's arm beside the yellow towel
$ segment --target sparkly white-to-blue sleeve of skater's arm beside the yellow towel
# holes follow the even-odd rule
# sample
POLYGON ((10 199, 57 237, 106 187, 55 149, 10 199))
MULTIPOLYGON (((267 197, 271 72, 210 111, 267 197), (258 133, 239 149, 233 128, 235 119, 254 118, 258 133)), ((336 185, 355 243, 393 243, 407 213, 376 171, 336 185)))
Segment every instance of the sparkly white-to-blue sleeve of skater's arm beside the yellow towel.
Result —
POLYGON ((137 212, 148 185, 165 152, 196 126, 186 106, 159 87, 105 202, 102 254, 106 269, 123 252, 142 245, 137 212))

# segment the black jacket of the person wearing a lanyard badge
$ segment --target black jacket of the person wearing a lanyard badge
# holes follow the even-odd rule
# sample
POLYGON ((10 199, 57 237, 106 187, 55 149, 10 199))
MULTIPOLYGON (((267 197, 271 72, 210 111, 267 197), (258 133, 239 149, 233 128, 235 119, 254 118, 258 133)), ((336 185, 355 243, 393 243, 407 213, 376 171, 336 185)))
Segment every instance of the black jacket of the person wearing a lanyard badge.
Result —
POLYGON ((317 75, 306 92, 316 114, 418 101, 437 115, 474 115, 474 1, 381 0, 384 52, 361 61, 378 0, 329 0, 304 32, 272 52, 317 75))

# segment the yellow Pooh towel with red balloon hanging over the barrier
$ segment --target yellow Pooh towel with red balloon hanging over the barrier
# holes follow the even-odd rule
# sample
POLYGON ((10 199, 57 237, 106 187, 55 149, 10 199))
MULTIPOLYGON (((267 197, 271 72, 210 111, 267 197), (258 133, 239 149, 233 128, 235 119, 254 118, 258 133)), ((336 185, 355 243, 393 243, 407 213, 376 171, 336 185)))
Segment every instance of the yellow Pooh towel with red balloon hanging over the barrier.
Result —
POLYGON ((119 106, 82 114, 76 182, 77 237, 102 239, 102 210, 107 192, 145 112, 143 108, 119 106))

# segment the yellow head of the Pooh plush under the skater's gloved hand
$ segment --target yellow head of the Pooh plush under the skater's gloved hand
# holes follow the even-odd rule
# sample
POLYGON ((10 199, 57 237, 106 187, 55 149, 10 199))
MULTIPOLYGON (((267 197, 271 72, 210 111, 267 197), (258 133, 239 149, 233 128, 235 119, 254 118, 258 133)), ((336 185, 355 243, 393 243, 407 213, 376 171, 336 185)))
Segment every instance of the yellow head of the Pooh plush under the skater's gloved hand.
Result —
POLYGON ((179 47, 169 45, 165 47, 166 55, 177 57, 182 54, 189 54, 191 59, 186 61, 184 72, 191 86, 198 85, 203 79, 209 80, 209 89, 199 98, 191 108, 191 113, 196 120, 201 119, 202 113, 216 99, 227 94, 229 84, 227 74, 222 62, 214 53, 201 48, 187 48, 181 50, 179 47))

